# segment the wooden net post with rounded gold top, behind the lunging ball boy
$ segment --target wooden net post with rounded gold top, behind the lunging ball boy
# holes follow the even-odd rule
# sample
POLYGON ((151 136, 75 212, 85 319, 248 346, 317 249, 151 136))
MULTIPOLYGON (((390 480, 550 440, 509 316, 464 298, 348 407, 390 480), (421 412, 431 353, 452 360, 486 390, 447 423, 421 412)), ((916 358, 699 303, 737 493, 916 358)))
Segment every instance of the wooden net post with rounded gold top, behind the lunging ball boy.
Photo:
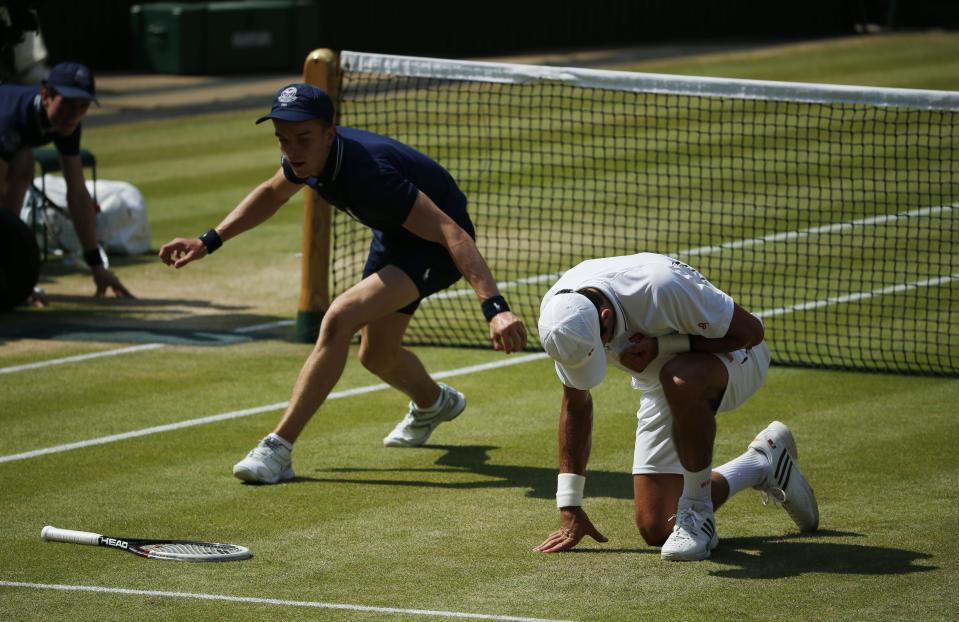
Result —
MULTIPOLYGON (((333 50, 313 50, 303 63, 303 82, 326 91, 336 101, 338 58, 333 50)), ((329 203, 312 188, 304 188, 303 262, 300 276, 300 303, 296 312, 296 336, 300 343, 313 343, 330 305, 329 203)))

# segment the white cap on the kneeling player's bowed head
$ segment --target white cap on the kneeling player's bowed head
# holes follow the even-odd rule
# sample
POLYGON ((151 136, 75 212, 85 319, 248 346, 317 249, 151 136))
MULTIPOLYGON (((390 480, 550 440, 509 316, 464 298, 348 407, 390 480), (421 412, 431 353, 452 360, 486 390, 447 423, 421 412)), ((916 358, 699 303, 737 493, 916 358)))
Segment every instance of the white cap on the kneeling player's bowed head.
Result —
POLYGON ((582 294, 556 294, 539 316, 539 340, 568 387, 588 390, 606 377, 599 314, 582 294))

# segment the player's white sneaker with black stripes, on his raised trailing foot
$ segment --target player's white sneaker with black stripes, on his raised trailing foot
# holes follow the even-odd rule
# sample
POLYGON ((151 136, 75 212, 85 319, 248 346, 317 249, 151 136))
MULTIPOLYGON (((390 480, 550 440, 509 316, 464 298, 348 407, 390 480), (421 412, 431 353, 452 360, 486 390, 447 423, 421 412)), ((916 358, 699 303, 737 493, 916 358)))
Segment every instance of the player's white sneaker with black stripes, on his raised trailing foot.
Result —
POLYGON ((800 531, 816 531, 819 527, 819 504, 802 471, 799 452, 792 432, 779 421, 773 421, 749 444, 769 460, 769 473, 756 490, 763 493, 763 504, 771 498, 783 506, 800 531))

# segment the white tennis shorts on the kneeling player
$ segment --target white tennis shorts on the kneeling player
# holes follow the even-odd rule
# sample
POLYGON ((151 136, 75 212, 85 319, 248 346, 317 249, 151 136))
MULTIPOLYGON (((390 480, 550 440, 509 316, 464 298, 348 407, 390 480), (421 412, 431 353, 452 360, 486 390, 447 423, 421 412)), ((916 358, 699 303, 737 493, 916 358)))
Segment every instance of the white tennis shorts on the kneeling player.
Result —
MULTIPOLYGON (((763 341, 749 350, 732 352, 733 360, 716 354, 729 371, 729 384, 718 412, 733 410, 759 390, 769 371, 769 346, 763 341)), ((636 412, 636 446, 633 450, 633 475, 679 473, 676 447, 673 445, 673 415, 662 386, 645 391, 636 412)))

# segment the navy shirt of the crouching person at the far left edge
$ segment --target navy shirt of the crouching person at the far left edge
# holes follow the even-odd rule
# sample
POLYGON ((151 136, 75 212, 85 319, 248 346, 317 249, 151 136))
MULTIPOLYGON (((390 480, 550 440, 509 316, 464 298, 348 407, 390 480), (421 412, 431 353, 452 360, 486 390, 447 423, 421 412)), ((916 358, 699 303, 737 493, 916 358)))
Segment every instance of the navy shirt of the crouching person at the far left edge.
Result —
POLYGON ((63 155, 80 154, 80 125, 69 136, 50 129, 39 86, 0 85, 0 157, 13 158, 23 148, 53 142, 63 155))

